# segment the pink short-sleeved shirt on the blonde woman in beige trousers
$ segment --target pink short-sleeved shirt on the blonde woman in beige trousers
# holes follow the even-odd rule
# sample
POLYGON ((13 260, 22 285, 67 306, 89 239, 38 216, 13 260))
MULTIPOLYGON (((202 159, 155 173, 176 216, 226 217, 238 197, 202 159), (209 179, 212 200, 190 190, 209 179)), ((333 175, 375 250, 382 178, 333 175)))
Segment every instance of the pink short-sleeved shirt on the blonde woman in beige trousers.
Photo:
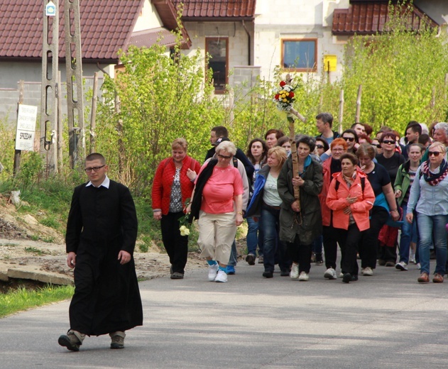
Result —
POLYGON ((213 174, 202 191, 201 210, 209 214, 224 214, 234 211, 234 197, 243 194, 243 180, 233 165, 215 166, 213 174))

